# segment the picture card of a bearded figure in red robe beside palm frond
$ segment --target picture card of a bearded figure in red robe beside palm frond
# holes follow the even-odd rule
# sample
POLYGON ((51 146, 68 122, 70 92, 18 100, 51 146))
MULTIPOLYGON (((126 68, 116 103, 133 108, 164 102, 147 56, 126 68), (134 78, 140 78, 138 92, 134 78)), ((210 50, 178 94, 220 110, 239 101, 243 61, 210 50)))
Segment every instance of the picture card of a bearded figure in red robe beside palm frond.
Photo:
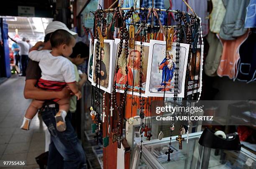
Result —
POLYGON ((145 96, 146 88, 146 77, 147 77, 147 66, 148 66, 148 51, 149 43, 142 43, 135 41, 134 48, 129 48, 129 55, 126 60, 125 58, 125 49, 123 45, 123 51, 118 59, 118 50, 120 46, 120 39, 115 39, 115 67, 118 65, 118 73, 114 72, 113 83, 116 81, 116 91, 123 93, 125 84, 128 80, 128 91, 127 94, 134 94, 139 96, 140 92, 140 75, 141 75, 141 96, 145 96), (142 51, 142 58, 141 58, 142 51), (142 60, 142 61, 140 61, 142 60), (128 75, 126 75, 125 67, 128 67, 128 75), (142 67, 140 67, 142 66, 142 67))

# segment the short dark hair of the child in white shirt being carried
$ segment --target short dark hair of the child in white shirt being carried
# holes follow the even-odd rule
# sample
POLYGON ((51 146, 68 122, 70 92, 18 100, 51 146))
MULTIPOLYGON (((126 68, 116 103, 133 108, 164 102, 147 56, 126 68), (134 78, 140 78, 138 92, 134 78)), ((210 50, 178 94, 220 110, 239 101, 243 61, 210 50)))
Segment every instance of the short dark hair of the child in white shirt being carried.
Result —
POLYGON ((59 45, 69 45, 72 40, 72 35, 66 30, 56 30, 51 34, 51 47, 58 47, 59 45))

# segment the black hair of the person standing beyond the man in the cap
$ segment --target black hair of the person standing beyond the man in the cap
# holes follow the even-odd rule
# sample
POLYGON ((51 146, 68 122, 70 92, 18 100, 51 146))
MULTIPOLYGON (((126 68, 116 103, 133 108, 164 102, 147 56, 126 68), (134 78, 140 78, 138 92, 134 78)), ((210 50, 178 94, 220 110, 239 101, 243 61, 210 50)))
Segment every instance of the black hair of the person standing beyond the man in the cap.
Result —
POLYGON ((81 55, 81 58, 89 57, 89 47, 81 41, 76 43, 73 47, 73 53, 69 57, 75 58, 79 54, 81 55))

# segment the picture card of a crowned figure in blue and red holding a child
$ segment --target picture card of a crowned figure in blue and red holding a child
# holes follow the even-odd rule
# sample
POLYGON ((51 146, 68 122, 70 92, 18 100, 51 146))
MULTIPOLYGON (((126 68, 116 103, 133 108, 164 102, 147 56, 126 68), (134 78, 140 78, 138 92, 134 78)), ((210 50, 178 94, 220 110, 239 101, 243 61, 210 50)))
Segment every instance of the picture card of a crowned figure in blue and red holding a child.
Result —
MULTIPOLYGON (((189 45, 179 47, 178 97, 184 97, 185 75, 189 45)), ((153 97, 174 97, 174 74, 176 63, 176 43, 166 52, 166 42, 150 40, 146 95, 153 97)))

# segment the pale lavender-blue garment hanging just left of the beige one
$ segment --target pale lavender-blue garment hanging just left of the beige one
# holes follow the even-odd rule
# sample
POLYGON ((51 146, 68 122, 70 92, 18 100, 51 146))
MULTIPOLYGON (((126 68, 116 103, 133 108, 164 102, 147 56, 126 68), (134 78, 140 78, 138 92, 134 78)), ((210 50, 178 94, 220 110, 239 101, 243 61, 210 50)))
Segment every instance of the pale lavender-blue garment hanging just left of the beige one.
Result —
MULTIPOLYGON (((197 16, 201 17, 202 36, 206 36, 209 30, 207 19, 207 0, 187 0, 187 3, 192 7, 197 16)), ((192 13, 192 11, 188 9, 188 13, 192 13)))

